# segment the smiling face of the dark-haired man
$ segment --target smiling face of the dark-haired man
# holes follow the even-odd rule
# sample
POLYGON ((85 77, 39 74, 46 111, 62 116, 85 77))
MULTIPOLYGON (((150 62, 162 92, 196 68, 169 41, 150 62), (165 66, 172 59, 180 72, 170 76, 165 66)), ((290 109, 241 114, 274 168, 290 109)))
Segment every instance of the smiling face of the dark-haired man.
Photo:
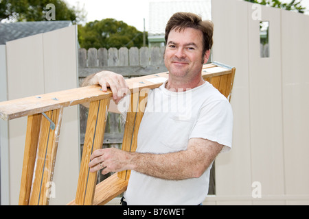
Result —
POLYGON ((203 53, 203 34, 198 29, 172 29, 164 53, 164 63, 174 78, 190 81, 201 77, 201 68, 206 61, 203 53), (204 57, 204 58, 203 58, 204 57))

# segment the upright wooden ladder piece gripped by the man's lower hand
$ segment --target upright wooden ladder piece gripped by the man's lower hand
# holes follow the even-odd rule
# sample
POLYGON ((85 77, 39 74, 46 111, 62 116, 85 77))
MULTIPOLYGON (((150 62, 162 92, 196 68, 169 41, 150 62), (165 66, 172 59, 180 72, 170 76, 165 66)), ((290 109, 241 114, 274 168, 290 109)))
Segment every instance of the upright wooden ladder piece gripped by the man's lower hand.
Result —
POLYGON ((95 192, 97 172, 89 172, 90 155, 103 144, 109 100, 93 101, 90 103, 87 129, 78 177, 76 192, 77 205, 92 205, 95 192))

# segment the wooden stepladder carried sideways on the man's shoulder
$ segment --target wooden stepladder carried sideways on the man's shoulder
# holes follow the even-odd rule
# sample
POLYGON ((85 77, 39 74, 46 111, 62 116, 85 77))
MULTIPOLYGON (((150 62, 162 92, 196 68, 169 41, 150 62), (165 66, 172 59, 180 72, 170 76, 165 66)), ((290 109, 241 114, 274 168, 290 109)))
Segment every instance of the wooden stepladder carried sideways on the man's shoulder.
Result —
MULTIPOLYGON (((230 99, 235 71, 236 68, 214 62, 203 66, 202 76, 230 99)), ((136 150, 148 90, 158 88, 167 78, 168 73, 159 73, 126 79, 131 98, 122 150, 136 150)), ((111 96, 110 90, 102 92, 100 86, 88 86, 0 103, 0 118, 3 120, 27 116, 19 205, 49 204, 45 185, 53 180, 63 108, 87 102, 90 106, 78 188, 75 200, 68 205, 104 205, 126 190, 130 170, 116 172, 97 185, 97 172, 89 172, 88 167, 91 153, 103 144, 111 96)))

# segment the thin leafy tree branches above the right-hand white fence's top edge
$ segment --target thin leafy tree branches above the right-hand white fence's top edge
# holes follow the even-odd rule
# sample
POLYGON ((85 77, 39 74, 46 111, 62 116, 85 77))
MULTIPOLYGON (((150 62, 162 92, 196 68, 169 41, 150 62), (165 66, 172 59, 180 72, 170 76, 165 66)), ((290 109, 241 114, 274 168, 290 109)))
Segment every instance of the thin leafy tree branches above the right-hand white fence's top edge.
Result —
POLYGON ((301 1, 296 1, 296 0, 290 0, 290 3, 282 3, 279 0, 244 0, 244 1, 249 1, 252 3, 258 3, 261 5, 270 5, 271 7, 274 8, 282 8, 285 10, 289 10, 289 11, 297 11, 299 13, 304 13, 306 8, 301 6, 301 1))

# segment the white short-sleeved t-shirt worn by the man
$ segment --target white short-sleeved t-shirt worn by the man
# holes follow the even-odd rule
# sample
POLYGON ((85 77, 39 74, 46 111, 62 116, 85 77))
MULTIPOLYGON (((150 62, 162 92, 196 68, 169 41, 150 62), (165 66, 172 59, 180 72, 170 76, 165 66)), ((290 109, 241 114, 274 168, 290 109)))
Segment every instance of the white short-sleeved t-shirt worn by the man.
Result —
MULTIPOLYGON (((165 83, 148 93, 137 152, 184 151, 190 138, 215 141, 224 145, 221 152, 229 151, 233 113, 225 96, 207 81, 185 92, 171 92, 165 83)), ((177 181, 132 170, 124 197, 128 205, 198 205, 207 196, 210 168, 199 178, 177 181)))

